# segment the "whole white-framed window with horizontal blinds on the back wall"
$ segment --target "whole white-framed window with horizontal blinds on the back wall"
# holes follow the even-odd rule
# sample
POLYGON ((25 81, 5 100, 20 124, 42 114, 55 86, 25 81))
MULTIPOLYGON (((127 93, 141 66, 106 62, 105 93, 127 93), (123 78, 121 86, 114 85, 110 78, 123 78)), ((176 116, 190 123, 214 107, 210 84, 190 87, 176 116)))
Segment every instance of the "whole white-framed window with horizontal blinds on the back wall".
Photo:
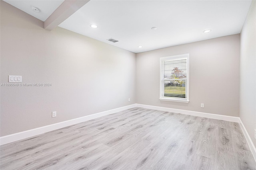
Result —
POLYGON ((188 103, 189 54, 160 58, 160 100, 188 103))

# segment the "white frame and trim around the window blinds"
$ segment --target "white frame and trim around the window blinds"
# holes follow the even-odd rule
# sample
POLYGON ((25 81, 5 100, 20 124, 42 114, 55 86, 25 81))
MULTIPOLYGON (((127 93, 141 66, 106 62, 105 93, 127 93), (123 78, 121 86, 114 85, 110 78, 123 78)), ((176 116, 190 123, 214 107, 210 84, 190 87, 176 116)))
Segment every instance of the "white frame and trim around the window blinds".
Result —
POLYGON ((183 102, 188 103, 189 102, 189 53, 188 54, 182 54, 182 55, 172 55, 168 57, 160 57, 160 93, 159 93, 159 100, 163 101, 171 101, 171 102, 183 102), (181 59, 181 58, 187 58, 187 80, 186 80, 186 98, 179 98, 179 97, 162 97, 162 61, 168 61, 168 60, 174 60, 174 59, 181 59))

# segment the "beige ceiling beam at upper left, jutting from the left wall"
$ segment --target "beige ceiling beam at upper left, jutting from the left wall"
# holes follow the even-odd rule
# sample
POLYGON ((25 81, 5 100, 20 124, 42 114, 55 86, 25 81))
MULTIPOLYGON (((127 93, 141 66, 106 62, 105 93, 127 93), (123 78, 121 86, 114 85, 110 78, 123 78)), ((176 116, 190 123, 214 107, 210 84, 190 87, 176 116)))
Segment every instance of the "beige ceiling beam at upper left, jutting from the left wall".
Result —
POLYGON ((65 0, 45 21, 44 29, 52 30, 90 0, 65 0))

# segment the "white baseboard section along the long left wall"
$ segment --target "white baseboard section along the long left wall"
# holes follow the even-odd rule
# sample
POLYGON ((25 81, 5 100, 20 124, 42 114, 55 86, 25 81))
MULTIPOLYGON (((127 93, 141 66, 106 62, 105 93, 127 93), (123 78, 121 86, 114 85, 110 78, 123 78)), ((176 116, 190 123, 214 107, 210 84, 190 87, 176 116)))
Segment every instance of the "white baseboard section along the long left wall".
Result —
POLYGON ((133 107, 136 107, 136 104, 132 104, 132 105, 124 106, 124 107, 119 107, 119 108, 108 110, 108 111, 102 111, 100 113, 95 113, 95 114, 87 115, 87 116, 84 116, 84 117, 78 117, 76 119, 71 119, 71 120, 68 120, 68 121, 62 121, 60 123, 55 123, 55 124, 52 124, 52 125, 38 127, 36 129, 30 129, 28 131, 23 131, 23 132, 14 133, 14 134, 11 134, 11 135, 6 135, 6 136, 3 136, 3 137, 0 137, 0 145, 4 145, 6 143, 11 143, 11 142, 18 141, 18 140, 21 140, 21 139, 25 139, 25 138, 28 138, 28 137, 32 137, 32 136, 35 136, 35 135, 40 135, 42 133, 46 133, 46 132, 49 132, 49 131, 60 129, 60 128, 67 127, 67 126, 70 126, 70 125, 74 125, 74 124, 77 124, 77 123, 82 123, 84 121, 88 121, 88 120, 95 119, 95 118, 98 118, 98 117, 102 117, 102 116, 105 116, 105 115, 110 115, 112 113, 116 113, 118 111, 123 111, 123 110, 130 109, 130 108, 133 108, 133 107))

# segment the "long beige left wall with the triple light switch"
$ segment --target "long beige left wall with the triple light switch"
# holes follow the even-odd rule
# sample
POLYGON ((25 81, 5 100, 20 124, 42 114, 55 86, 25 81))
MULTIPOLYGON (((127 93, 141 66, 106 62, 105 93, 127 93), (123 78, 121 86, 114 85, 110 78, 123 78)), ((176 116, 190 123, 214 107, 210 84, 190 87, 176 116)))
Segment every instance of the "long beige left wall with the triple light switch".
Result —
POLYGON ((1 83, 21 75, 22 83, 52 84, 0 87, 1 136, 135 103, 134 53, 60 27, 47 31, 0 3, 1 83))

